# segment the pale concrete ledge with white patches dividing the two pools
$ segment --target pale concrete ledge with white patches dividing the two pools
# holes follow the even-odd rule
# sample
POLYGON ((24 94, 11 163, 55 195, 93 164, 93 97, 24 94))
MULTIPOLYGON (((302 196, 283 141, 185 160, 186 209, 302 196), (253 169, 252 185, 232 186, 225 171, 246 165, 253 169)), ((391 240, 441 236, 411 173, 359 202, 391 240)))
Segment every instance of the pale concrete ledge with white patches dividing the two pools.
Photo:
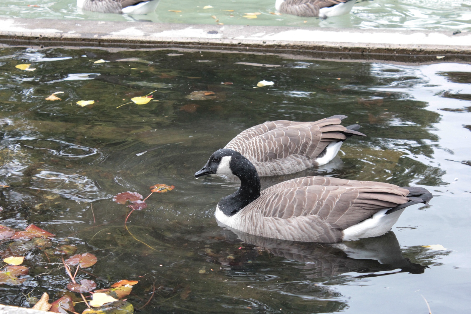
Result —
POLYGON ((167 47, 288 52, 321 59, 412 63, 471 62, 471 32, 453 35, 452 32, 394 29, 0 18, 0 43, 41 47, 167 47))

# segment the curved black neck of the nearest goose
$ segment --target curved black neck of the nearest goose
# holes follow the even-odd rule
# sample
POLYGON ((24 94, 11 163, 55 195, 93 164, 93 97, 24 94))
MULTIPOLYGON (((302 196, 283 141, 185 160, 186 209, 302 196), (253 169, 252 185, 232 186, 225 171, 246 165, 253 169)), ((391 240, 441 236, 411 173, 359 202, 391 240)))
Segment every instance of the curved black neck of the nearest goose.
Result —
POLYGON ((219 209, 229 217, 260 196, 260 177, 252 162, 240 155, 231 160, 230 168, 239 177, 241 185, 235 193, 219 201, 219 209))

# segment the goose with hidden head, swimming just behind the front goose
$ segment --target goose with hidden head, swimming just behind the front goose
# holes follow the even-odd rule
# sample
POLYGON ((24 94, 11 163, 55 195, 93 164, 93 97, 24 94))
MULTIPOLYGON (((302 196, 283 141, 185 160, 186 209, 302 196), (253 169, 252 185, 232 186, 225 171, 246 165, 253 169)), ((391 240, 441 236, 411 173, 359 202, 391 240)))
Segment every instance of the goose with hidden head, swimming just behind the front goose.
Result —
POLYGON ((358 124, 344 127, 345 115, 314 122, 267 121, 242 131, 224 148, 245 156, 259 176, 278 176, 325 165, 339 152, 343 141, 358 132, 358 124))

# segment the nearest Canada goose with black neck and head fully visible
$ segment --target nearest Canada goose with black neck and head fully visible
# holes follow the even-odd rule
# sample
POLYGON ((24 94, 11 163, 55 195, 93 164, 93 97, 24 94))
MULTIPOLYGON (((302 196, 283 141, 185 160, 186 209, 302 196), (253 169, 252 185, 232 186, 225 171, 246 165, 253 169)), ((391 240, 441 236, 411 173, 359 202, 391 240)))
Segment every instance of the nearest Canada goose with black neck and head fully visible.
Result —
POLYGON ((234 174, 240 188, 219 201, 216 219, 224 225, 266 238, 300 242, 341 242, 390 231, 407 206, 431 199, 421 187, 301 177, 260 193, 252 163, 232 149, 214 152, 195 177, 234 174))

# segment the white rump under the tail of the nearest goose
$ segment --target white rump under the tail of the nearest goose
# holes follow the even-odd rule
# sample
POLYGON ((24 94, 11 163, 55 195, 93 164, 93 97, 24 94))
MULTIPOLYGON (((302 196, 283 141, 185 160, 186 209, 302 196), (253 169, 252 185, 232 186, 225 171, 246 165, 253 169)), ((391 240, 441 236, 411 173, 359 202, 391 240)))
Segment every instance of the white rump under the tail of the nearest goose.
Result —
POLYGON ((399 216, 405 208, 399 209, 389 215, 386 212, 390 208, 377 211, 371 218, 352 225, 343 230, 343 241, 358 240, 362 238, 379 237, 391 230, 391 227, 398 221, 399 216))

